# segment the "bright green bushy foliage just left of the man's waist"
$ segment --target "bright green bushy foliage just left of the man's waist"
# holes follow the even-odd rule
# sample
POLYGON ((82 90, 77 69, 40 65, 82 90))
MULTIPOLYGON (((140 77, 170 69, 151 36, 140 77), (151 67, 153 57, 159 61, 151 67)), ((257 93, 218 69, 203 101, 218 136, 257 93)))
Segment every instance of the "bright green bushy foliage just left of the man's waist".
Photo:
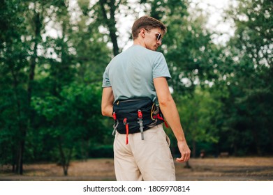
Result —
POLYGON ((43 120, 45 134, 63 148, 74 148, 78 141, 96 143, 103 137, 100 100, 98 86, 72 83, 64 86, 59 98, 34 97, 32 106, 43 120))

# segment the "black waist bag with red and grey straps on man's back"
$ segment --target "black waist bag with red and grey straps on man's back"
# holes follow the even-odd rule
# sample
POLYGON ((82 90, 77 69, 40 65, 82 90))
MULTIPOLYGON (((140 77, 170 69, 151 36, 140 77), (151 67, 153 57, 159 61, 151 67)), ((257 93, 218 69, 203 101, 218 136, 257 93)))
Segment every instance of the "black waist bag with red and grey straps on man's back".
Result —
POLYGON ((113 105, 112 115, 115 119, 113 133, 117 130, 120 134, 126 134, 126 144, 128 134, 141 132, 143 140, 145 130, 165 122, 161 110, 150 98, 117 101, 113 105))

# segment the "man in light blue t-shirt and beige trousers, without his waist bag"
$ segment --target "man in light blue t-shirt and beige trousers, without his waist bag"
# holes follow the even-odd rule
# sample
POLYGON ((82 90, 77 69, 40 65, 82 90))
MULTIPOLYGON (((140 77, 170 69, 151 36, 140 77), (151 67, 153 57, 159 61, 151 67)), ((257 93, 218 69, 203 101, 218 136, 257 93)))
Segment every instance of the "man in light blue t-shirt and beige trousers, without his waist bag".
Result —
MULTIPOLYGON (((119 100, 149 98, 158 103, 177 139, 181 157, 176 160, 187 162, 191 150, 169 91, 167 79, 170 79, 170 72, 163 54, 156 52, 166 30, 166 26, 153 17, 143 16, 134 22, 133 46, 115 56, 103 74, 101 110, 103 116, 112 117, 113 103, 118 105, 119 100)), ((117 130, 114 141, 117 180, 175 180, 170 139, 163 125, 148 127, 144 133, 130 133, 131 123, 125 121, 124 125, 128 125, 128 132, 122 134, 117 130), (144 137, 140 136, 141 133, 144 137)))

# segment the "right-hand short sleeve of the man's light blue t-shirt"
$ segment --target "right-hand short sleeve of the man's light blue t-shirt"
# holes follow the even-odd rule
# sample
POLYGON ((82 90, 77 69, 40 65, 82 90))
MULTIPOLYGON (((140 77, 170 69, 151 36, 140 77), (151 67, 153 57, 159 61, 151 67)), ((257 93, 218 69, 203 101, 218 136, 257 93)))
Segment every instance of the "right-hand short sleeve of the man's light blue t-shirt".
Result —
POLYGON ((158 53, 153 66, 153 79, 157 77, 166 77, 166 79, 171 78, 167 62, 161 53, 158 53))

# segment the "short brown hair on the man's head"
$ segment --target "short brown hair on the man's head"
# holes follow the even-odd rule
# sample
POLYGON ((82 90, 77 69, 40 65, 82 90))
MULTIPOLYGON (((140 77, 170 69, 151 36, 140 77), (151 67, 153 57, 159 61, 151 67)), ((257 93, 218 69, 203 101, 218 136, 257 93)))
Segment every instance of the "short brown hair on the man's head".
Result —
POLYGON ((163 31, 163 34, 167 32, 167 27, 159 20, 156 20, 154 17, 149 17, 145 15, 138 18, 138 20, 135 20, 132 26, 133 40, 135 40, 135 38, 138 38, 138 33, 140 32, 140 29, 151 30, 154 28, 160 28, 163 31))

